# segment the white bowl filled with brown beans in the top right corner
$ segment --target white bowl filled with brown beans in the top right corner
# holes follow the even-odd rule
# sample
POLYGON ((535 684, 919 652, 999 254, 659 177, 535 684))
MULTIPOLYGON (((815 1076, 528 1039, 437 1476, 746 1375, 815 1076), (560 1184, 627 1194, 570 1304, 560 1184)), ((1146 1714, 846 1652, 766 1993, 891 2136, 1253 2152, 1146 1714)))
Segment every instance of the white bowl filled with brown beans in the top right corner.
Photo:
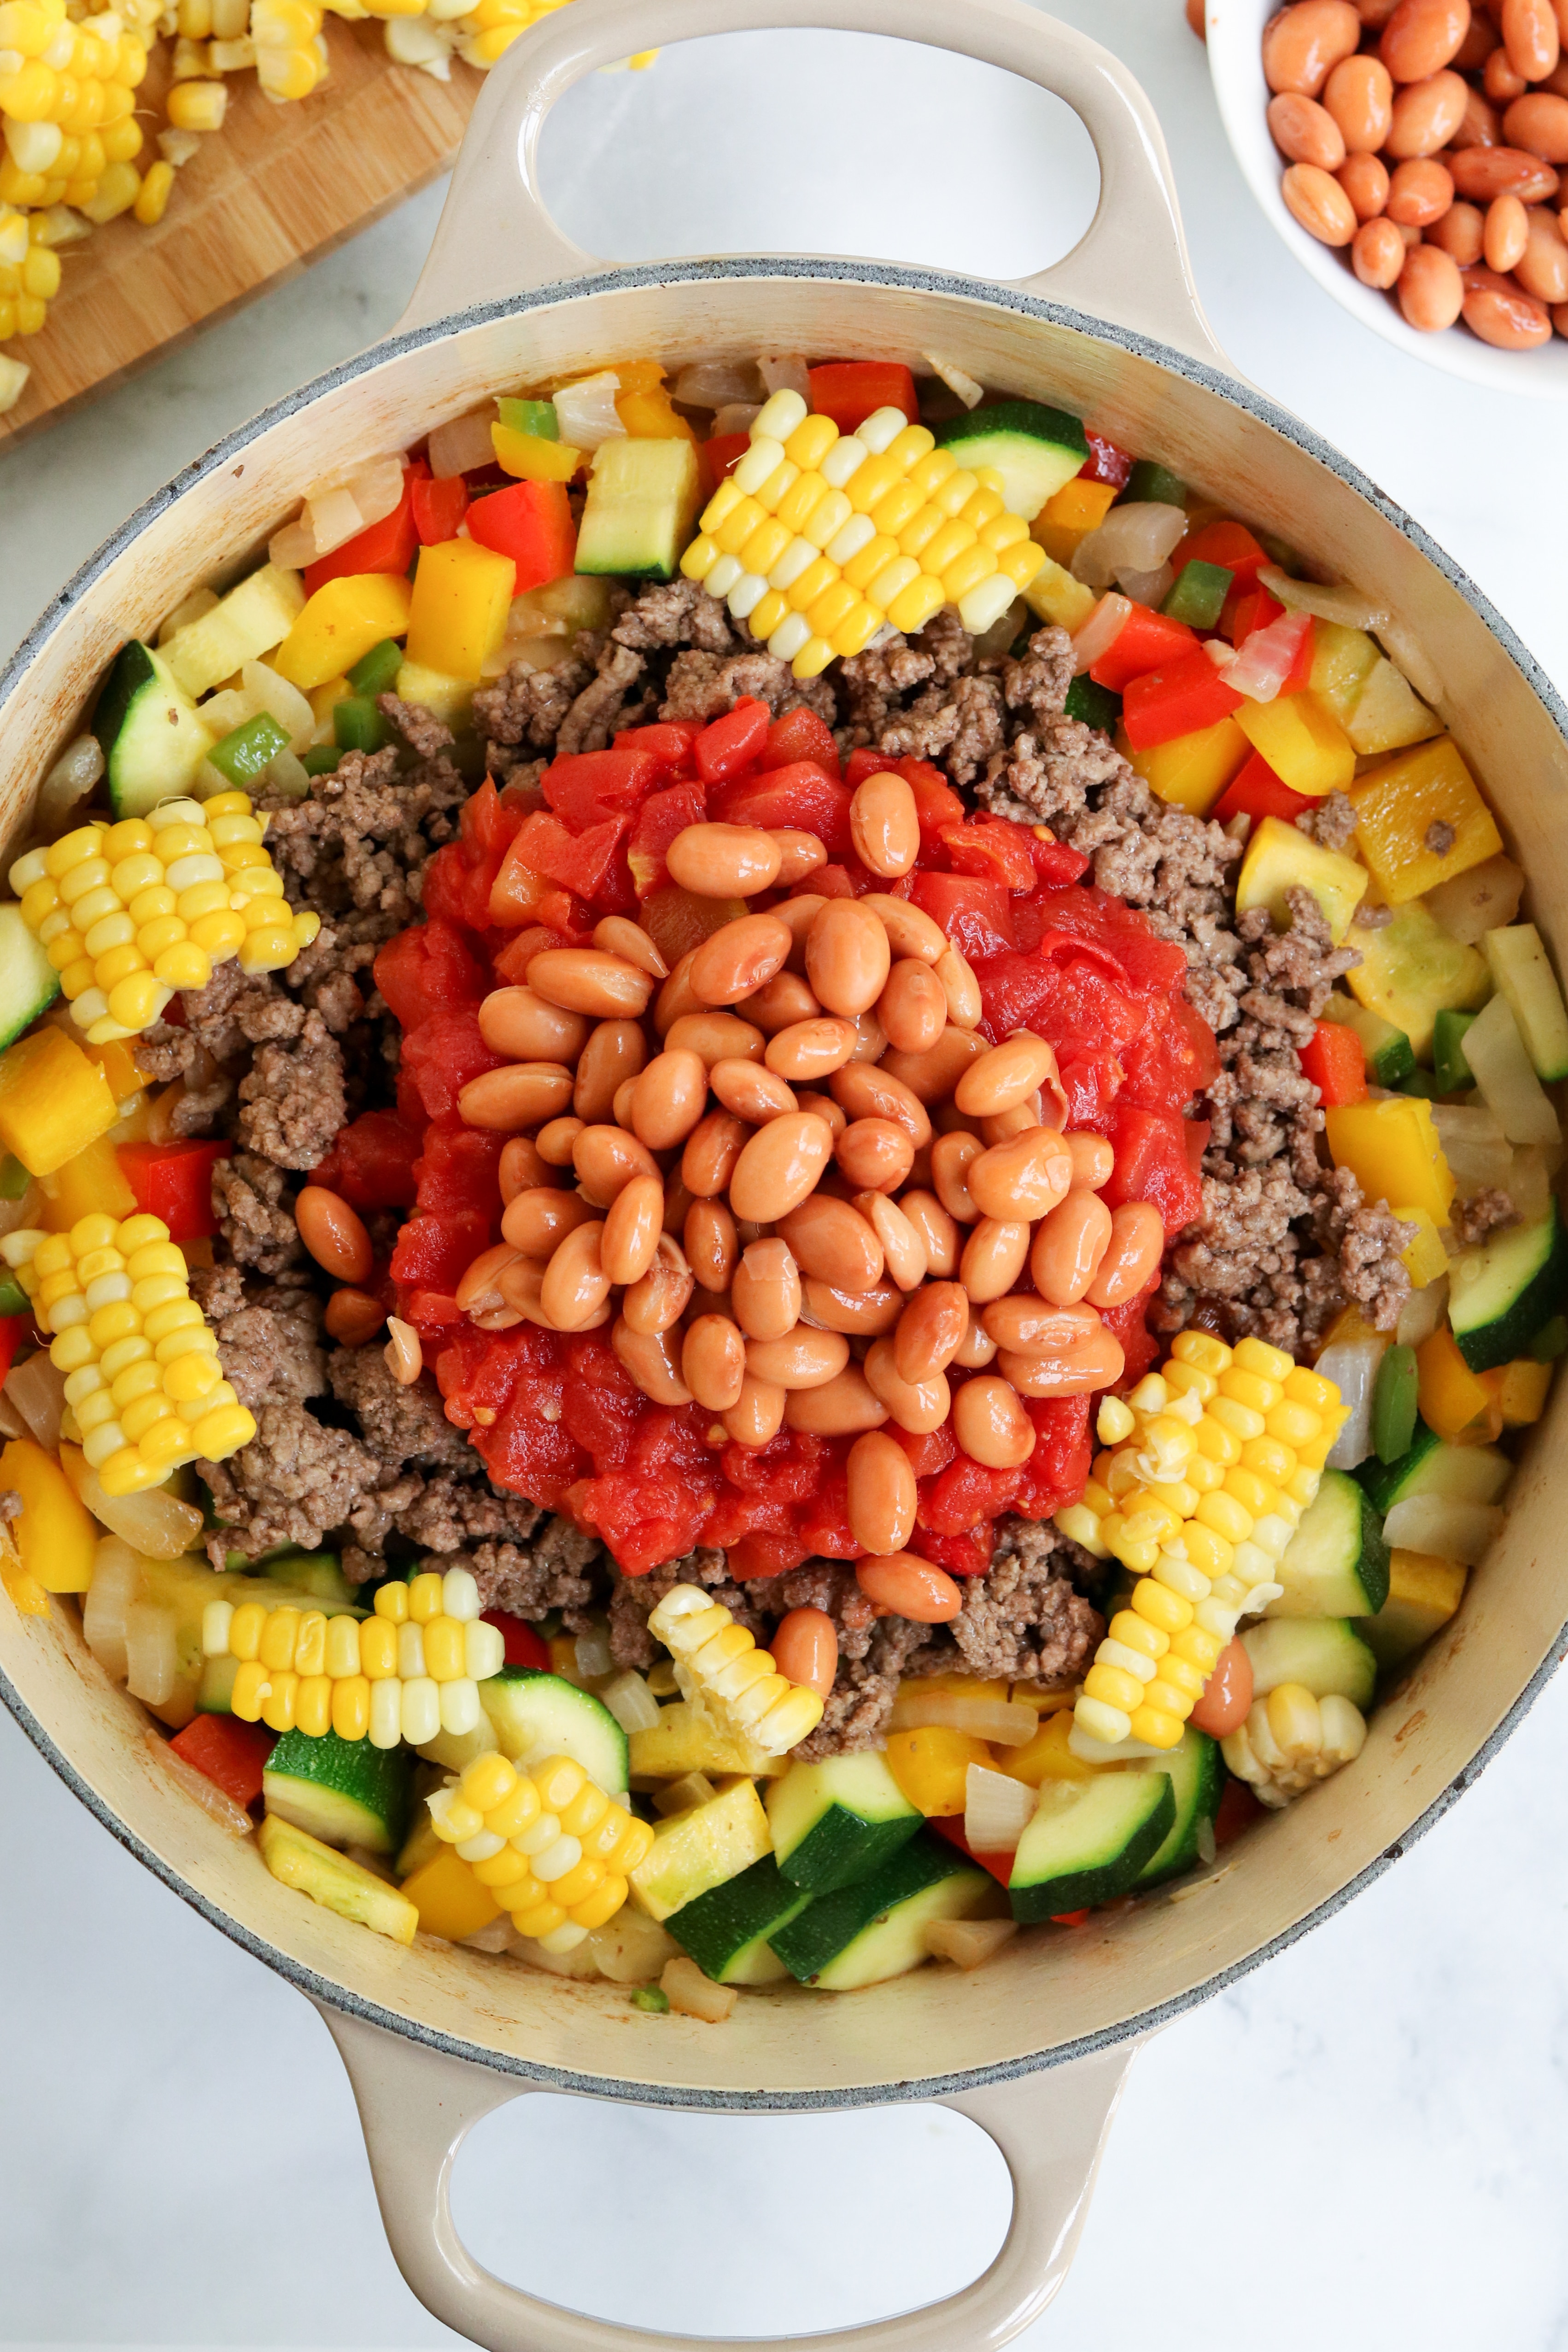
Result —
POLYGON ((1429 367, 1568 400, 1568 0, 1208 0, 1206 31, 1302 268, 1429 367))

